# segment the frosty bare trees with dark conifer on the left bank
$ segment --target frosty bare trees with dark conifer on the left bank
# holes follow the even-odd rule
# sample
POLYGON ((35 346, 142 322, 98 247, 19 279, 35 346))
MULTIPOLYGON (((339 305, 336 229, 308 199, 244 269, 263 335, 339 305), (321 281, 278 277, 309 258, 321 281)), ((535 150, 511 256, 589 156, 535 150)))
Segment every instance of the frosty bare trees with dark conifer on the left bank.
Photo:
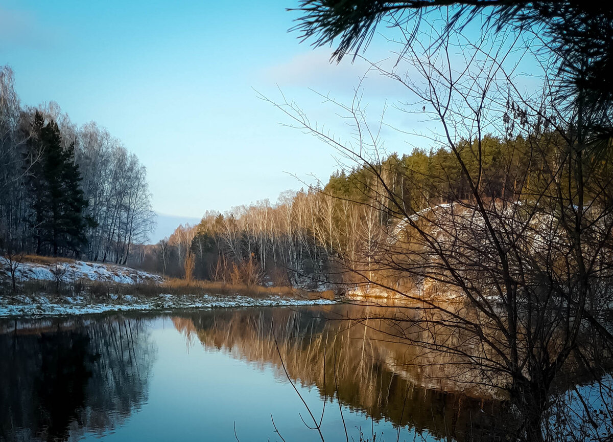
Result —
POLYGON ((126 263, 154 227, 147 171, 96 123, 23 107, 0 69, 0 248, 126 263))

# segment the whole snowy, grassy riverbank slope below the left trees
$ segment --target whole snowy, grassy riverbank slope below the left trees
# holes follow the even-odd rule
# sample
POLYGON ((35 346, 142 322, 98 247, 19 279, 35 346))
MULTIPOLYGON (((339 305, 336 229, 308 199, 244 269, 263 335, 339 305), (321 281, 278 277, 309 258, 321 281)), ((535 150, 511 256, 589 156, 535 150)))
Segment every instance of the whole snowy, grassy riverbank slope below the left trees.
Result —
POLYGON ((26 258, 15 269, 0 257, 0 317, 93 314, 335 303, 333 292, 177 279, 136 269, 55 258, 26 258))

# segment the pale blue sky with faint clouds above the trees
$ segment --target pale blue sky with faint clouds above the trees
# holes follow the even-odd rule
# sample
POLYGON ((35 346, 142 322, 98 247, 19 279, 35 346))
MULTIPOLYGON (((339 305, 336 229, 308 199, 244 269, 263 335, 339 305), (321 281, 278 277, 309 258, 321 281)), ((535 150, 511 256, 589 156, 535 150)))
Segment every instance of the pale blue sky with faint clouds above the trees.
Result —
MULTIPOLYGON (((91 120, 147 167, 153 209, 199 219, 207 210, 297 190, 338 169, 338 153, 300 130, 263 95, 294 101, 341 139, 351 131, 330 95, 351 103, 367 71, 351 58, 329 62, 288 33, 297 1, 0 0, 0 64, 15 73, 21 102, 56 101, 72 122, 91 120), (321 95, 318 95, 321 94, 321 95)), ((389 57, 375 37, 366 53, 389 57)), ((389 79, 362 84, 368 115, 402 100, 389 79)), ((391 126, 419 126, 406 116, 391 126)), ((388 152, 413 145, 383 127, 388 152)), ((421 147, 428 147, 422 145, 421 147)))

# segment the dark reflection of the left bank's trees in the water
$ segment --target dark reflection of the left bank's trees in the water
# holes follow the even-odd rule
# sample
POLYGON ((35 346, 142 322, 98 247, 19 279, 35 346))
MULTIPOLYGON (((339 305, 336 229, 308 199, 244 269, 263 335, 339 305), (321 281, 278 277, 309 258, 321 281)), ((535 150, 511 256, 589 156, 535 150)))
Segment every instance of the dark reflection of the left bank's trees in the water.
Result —
POLYGON ((143 323, 58 319, 0 333, 0 440, 74 440, 147 400, 155 348, 143 323))

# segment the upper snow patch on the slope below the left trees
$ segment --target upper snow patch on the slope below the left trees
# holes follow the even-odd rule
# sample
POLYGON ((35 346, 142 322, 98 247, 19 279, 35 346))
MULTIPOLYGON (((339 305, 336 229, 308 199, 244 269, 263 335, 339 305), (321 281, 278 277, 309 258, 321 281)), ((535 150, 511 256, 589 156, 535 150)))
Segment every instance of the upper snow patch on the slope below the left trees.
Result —
MULTIPOLYGON (((91 281, 118 282, 120 284, 140 284, 142 282, 162 282, 162 277, 142 270, 136 270, 114 264, 101 264, 75 261, 74 263, 39 264, 32 262, 20 263, 15 276, 19 281, 31 279, 55 279, 55 273, 64 273, 63 281, 72 282, 78 279, 91 281)), ((0 277, 10 277, 6 258, 0 257, 0 277)))

